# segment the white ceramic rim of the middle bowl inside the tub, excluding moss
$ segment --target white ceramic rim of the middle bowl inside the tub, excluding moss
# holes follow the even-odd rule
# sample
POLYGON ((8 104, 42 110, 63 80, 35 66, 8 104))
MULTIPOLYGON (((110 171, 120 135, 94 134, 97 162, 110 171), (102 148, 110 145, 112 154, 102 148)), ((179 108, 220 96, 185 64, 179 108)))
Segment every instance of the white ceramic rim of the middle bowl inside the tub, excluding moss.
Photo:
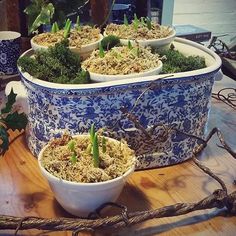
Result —
POLYGON ((141 73, 132 73, 132 74, 127 74, 127 75, 103 75, 103 74, 89 72, 89 74, 90 74, 91 80, 94 82, 109 82, 109 81, 117 81, 117 80, 125 80, 125 79, 130 79, 130 78, 158 75, 161 72, 162 66, 163 64, 161 60, 159 60, 158 67, 148 70, 148 71, 141 72, 141 73))

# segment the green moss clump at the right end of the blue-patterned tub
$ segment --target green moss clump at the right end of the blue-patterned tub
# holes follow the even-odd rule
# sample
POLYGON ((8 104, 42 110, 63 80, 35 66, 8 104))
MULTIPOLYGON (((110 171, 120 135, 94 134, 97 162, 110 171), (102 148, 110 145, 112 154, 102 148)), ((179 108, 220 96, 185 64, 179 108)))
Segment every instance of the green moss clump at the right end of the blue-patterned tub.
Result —
POLYGON ((204 57, 185 56, 172 46, 168 50, 158 51, 163 58, 162 74, 186 72, 206 67, 204 57))

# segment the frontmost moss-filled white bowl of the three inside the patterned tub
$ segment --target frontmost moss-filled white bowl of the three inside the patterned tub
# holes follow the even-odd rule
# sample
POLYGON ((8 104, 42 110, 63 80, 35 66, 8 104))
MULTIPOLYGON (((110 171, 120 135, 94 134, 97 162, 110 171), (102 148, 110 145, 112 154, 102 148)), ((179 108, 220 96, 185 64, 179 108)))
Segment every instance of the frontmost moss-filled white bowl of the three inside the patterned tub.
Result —
POLYGON ((157 75, 162 62, 150 48, 130 45, 103 52, 95 50, 82 62, 82 68, 89 72, 92 81, 106 82, 157 75))

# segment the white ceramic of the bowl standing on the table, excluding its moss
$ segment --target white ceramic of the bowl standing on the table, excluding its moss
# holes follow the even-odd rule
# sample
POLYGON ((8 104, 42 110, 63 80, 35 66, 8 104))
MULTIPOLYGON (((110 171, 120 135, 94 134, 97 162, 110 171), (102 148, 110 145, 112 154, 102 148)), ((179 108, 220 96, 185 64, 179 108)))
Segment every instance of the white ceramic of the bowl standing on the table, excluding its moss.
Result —
MULTIPOLYGON (((77 135, 78 136, 78 135, 77 135)), ((87 136, 87 135, 85 135, 87 136)), ((76 135, 74 136, 76 137, 76 135)), ((111 139, 114 142, 119 142, 111 139)), ((42 166, 41 159, 46 145, 39 153, 38 163, 57 201, 69 213, 87 217, 105 202, 114 202, 119 197, 128 177, 134 172, 134 165, 122 176, 99 183, 77 183, 59 179, 42 166)), ((134 157, 135 158, 135 157, 134 157)), ((135 162, 135 161, 134 161, 135 162)))

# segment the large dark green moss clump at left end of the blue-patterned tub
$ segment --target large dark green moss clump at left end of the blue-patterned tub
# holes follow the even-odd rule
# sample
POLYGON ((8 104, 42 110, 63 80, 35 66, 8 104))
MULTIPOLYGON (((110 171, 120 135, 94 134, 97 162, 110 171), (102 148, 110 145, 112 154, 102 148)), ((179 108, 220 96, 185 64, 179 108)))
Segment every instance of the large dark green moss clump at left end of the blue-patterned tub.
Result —
POLYGON ((20 57, 18 65, 23 72, 53 83, 90 83, 89 73, 81 68, 80 56, 70 51, 67 39, 48 50, 36 51, 34 57, 20 57))

